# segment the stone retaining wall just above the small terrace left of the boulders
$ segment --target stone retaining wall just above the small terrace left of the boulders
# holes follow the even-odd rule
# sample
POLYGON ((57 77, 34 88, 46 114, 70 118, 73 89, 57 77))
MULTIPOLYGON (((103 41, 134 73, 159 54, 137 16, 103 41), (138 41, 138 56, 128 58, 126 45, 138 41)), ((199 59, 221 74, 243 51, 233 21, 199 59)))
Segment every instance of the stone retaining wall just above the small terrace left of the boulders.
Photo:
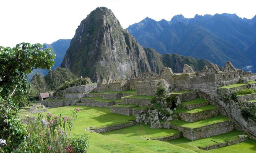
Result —
POLYGON ((124 105, 138 105, 148 106, 151 104, 150 99, 139 99, 139 98, 123 98, 121 97, 122 104, 124 105))

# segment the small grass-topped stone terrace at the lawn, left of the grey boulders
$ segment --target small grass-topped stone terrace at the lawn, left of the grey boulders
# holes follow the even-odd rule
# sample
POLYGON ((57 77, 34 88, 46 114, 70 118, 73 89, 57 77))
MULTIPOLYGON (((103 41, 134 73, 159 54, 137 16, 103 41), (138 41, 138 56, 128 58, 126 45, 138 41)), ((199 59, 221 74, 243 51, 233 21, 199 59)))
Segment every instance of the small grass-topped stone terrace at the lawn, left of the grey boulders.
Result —
POLYGON ((132 108, 137 107, 138 105, 113 105, 110 108, 111 113, 122 114, 130 116, 132 114, 132 108))

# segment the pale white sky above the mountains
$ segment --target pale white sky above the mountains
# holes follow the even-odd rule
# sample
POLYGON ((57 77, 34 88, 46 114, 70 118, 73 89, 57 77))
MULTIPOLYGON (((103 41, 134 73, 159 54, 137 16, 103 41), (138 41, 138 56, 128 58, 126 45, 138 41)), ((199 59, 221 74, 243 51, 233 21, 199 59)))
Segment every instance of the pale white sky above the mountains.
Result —
POLYGON ((96 7, 112 10, 123 28, 145 17, 168 21, 182 14, 236 13, 251 19, 255 0, 1 0, 0 46, 17 43, 48 43, 71 39, 81 20, 96 7))

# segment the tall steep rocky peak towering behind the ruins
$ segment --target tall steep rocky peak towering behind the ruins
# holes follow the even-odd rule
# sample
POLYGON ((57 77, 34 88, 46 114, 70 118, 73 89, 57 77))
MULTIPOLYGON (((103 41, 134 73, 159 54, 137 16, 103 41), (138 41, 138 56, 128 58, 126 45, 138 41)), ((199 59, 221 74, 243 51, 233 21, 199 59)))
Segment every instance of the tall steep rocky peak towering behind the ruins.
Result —
POLYGON ((81 21, 61 67, 93 82, 151 70, 143 48, 105 7, 96 8, 81 21))

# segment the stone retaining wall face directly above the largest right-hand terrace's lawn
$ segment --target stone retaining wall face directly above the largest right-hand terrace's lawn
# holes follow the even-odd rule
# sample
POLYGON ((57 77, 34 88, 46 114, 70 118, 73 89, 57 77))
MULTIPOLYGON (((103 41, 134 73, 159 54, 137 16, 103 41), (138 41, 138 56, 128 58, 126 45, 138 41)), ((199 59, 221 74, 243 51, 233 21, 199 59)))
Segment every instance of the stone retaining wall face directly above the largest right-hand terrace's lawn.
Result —
POLYGON ((187 122, 196 122, 199 121, 201 119, 207 119, 210 117, 215 117, 219 114, 219 110, 213 109, 213 110, 205 110, 205 111, 200 111, 197 113, 185 113, 185 112, 181 112, 179 113, 179 118, 183 121, 187 121, 187 122))

